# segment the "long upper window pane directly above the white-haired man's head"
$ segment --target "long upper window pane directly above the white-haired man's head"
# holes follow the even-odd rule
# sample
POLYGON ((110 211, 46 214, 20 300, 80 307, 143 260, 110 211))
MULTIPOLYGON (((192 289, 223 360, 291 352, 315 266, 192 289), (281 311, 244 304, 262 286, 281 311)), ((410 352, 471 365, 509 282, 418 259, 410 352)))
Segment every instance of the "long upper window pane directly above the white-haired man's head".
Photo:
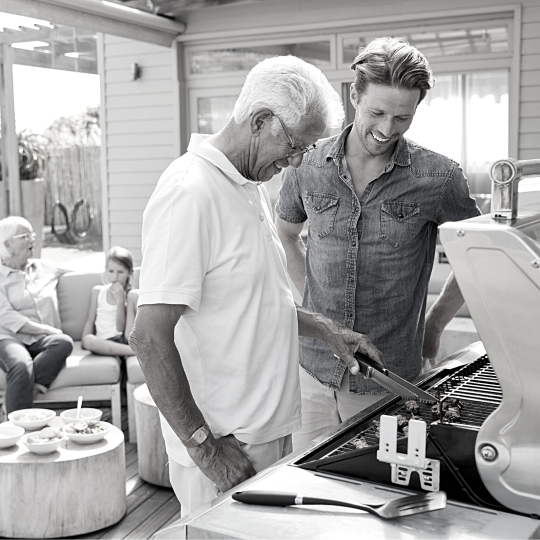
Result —
POLYGON ((330 65, 330 42, 289 43, 213 51, 190 51, 190 73, 249 71, 261 60, 293 55, 319 68, 330 65))

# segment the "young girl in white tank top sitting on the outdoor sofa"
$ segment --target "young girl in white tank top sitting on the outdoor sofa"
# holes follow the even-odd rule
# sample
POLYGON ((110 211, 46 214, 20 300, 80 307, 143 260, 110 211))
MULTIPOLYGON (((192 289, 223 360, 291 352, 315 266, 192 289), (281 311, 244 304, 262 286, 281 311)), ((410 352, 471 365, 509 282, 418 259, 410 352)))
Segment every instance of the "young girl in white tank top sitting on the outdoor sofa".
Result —
POLYGON ((83 328, 83 349, 92 353, 131 356, 127 344, 137 312, 138 292, 131 289, 133 256, 114 246, 105 259, 107 285, 92 289, 90 308, 83 328))

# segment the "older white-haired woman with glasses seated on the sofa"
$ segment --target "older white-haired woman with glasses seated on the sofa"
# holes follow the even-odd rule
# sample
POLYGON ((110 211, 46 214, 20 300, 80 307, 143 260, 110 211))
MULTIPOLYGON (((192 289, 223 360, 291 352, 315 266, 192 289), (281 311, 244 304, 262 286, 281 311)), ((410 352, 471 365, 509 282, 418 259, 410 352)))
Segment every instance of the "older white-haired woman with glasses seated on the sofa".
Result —
POLYGON ((8 414, 33 404, 33 389, 46 392, 73 341, 60 330, 56 285, 65 271, 31 259, 36 233, 24 218, 0 220, 0 369, 6 373, 8 414))

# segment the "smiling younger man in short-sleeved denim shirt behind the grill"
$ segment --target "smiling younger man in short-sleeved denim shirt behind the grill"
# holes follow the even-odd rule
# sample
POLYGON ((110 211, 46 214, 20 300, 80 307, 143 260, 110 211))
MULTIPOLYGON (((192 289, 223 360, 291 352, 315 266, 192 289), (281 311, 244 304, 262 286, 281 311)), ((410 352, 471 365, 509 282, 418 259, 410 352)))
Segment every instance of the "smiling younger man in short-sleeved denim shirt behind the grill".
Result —
MULTIPOLYGON (((422 53, 400 38, 374 39, 351 69, 354 123, 284 173, 276 225, 303 306, 368 335, 388 369, 412 380, 422 345, 434 358, 444 326, 463 304, 451 276, 424 334, 437 226, 480 212, 455 161, 403 137, 434 83, 422 53), (299 237, 306 219, 307 250, 299 237)), ((302 429, 295 449, 384 392, 347 376, 333 352, 320 340, 300 340, 302 429)))

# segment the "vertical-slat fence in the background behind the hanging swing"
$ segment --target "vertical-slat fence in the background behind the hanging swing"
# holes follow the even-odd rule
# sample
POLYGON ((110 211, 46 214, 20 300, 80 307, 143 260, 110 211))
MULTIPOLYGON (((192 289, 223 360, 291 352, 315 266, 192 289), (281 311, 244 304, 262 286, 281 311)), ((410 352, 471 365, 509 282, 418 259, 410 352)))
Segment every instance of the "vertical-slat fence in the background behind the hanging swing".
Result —
POLYGON ((89 202, 90 213, 93 215, 89 235, 99 237, 102 234, 100 156, 100 146, 48 149, 49 159, 45 169, 45 225, 52 225, 56 200, 66 207, 71 218, 73 207, 84 197, 89 202))

